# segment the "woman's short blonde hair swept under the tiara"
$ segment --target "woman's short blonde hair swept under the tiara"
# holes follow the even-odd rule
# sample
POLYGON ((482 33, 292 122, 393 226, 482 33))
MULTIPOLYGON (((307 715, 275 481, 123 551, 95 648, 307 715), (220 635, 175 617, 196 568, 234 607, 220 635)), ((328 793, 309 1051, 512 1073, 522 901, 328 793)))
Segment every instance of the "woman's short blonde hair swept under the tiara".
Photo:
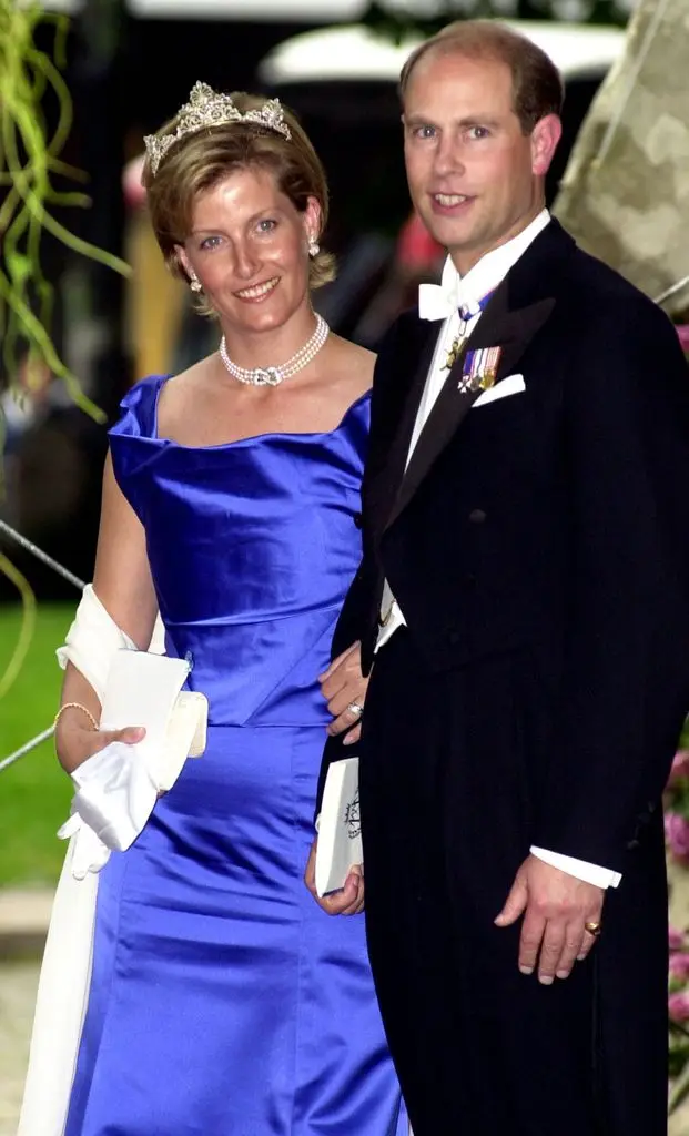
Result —
MULTIPOLYGON (((260 109, 267 101, 244 91, 232 93, 238 110, 260 109)), ((321 232, 327 222, 329 193, 325 170, 294 114, 283 107, 291 140, 256 123, 226 123, 185 134, 169 148, 153 175, 147 158, 142 183, 156 240, 169 270, 186 279, 175 245, 184 244, 191 226, 193 207, 200 193, 211 189, 235 169, 258 167, 272 173, 281 193, 298 212, 305 212, 309 198, 321 207, 321 232)), ((157 132, 164 137, 175 131, 177 116, 157 132)), ((319 236, 321 234, 316 234, 319 236)), ((309 264, 309 286, 321 287, 335 275, 334 257, 319 251, 309 264)), ((202 307, 202 304, 201 304, 202 307)))

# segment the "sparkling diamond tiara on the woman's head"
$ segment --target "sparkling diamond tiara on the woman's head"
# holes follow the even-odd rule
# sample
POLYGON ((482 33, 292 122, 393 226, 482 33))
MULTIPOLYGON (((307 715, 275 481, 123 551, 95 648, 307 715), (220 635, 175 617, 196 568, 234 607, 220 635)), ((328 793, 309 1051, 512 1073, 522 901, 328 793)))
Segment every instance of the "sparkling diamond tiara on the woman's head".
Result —
POLYGON ((266 130, 276 131, 288 142, 291 133, 284 120, 284 112, 279 99, 268 99, 256 110, 239 110, 230 94, 219 94, 208 83, 194 83, 185 102, 177 115, 177 128, 173 134, 148 134, 143 142, 148 154, 151 174, 158 173, 158 167, 165 154, 180 139, 207 126, 224 126, 226 123, 256 123, 266 130))

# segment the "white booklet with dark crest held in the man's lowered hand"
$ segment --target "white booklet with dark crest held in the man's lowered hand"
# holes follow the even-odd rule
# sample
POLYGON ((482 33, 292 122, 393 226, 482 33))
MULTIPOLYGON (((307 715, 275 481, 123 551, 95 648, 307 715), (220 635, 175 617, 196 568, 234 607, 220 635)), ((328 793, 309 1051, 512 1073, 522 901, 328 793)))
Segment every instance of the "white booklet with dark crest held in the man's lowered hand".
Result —
POLYGON ((359 815, 359 759, 342 758, 327 769, 318 818, 316 892, 344 886, 355 864, 364 862, 359 815))

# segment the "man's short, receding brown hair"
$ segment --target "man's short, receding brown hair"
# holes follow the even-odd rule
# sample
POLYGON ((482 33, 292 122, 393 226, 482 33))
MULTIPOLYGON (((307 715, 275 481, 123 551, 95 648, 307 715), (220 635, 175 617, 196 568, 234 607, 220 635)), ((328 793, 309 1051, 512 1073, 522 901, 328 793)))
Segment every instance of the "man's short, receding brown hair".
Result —
POLYGON ((455 20, 416 48, 400 75, 402 103, 414 68, 431 52, 506 64, 512 73, 514 112, 524 134, 531 134, 546 115, 562 112, 563 80, 549 56, 526 35, 491 19, 455 20))

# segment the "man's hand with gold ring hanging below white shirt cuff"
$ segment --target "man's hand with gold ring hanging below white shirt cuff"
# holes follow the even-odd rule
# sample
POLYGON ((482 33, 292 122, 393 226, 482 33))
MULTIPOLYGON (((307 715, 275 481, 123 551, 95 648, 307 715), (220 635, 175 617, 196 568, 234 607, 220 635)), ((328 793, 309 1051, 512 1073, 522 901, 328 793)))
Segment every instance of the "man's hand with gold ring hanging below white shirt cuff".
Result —
POLYGON ((538 962, 541 983, 567 978, 574 962, 586 959, 596 943, 584 924, 600 922, 604 897, 603 888, 528 857, 496 919, 498 927, 508 927, 524 914, 518 960, 522 974, 533 974, 538 962))

